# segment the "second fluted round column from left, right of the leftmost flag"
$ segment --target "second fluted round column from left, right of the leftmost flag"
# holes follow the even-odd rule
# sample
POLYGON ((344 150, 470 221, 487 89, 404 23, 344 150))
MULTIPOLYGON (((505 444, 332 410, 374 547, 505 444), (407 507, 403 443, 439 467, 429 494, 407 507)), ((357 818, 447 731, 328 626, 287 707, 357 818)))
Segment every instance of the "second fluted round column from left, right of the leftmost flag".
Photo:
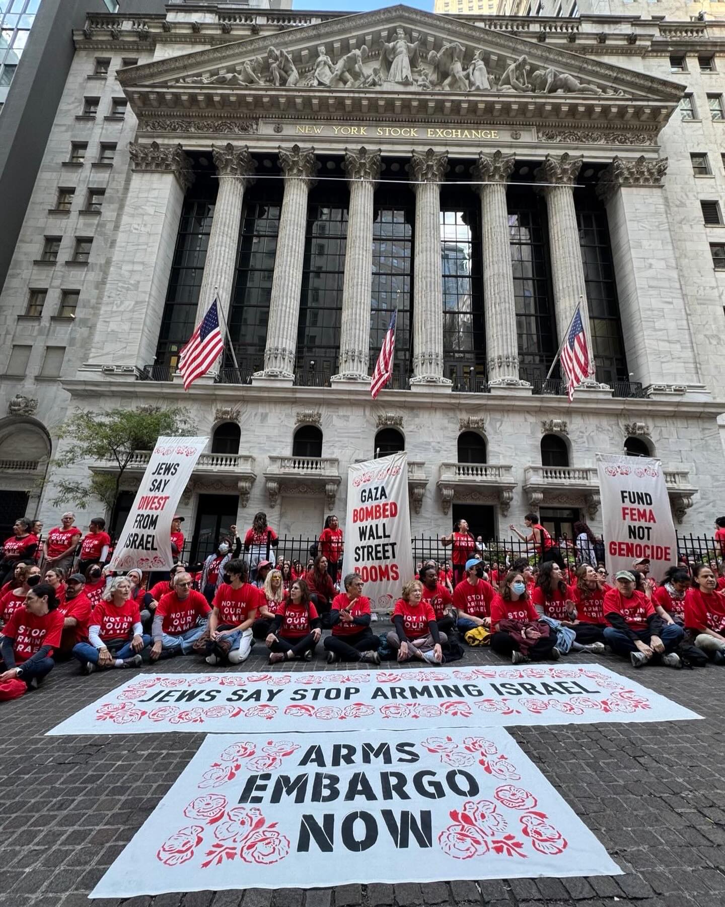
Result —
POLYGON ((307 196, 314 186, 314 148, 279 149, 279 165, 285 174, 285 195, 279 217, 275 273, 269 301, 265 368, 258 378, 295 377, 297 323, 304 264, 304 233, 307 196))

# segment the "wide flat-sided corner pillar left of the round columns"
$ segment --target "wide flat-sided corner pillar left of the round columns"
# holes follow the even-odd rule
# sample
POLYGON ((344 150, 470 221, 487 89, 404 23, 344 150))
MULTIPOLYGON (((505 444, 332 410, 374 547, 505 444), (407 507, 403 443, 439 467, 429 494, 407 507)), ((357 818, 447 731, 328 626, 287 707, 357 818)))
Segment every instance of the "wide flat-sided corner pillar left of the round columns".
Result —
POLYGON ((194 180, 180 145, 129 143, 131 179, 83 372, 128 377, 156 358, 184 193, 194 180), (105 317, 103 313, 113 313, 105 317))

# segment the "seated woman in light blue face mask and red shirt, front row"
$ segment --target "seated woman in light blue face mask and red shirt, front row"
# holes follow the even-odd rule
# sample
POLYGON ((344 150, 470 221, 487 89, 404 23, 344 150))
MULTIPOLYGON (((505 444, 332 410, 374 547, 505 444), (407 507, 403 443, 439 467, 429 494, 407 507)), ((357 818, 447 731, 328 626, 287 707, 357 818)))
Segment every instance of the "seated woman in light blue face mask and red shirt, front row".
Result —
POLYGON ((491 649, 517 665, 529 659, 558 658, 556 634, 538 619, 519 571, 509 571, 491 602, 491 649))

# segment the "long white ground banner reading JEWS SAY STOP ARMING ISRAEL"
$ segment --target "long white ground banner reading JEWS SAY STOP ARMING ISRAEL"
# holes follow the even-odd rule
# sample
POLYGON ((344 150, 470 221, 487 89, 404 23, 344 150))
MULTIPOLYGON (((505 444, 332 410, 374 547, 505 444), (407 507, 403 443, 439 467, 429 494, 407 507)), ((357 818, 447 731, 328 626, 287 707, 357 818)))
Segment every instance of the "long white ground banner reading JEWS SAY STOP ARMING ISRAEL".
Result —
MULTIPOLYGON (((656 678, 656 668, 648 668, 656 678)), ((701 716, 600 665, 142 674, 50 735, 672 721, 701 716)))

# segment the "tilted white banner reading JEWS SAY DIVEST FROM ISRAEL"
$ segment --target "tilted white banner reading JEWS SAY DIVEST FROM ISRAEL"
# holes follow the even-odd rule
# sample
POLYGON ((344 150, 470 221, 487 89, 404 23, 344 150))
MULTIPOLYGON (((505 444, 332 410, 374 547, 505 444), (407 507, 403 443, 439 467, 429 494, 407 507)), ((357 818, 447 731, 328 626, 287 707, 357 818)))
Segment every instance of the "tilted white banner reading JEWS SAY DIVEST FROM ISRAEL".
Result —
POLYGON ((208 438, 160 436, 113 552, 111 570, 170 570, 171 521, 208 438))

